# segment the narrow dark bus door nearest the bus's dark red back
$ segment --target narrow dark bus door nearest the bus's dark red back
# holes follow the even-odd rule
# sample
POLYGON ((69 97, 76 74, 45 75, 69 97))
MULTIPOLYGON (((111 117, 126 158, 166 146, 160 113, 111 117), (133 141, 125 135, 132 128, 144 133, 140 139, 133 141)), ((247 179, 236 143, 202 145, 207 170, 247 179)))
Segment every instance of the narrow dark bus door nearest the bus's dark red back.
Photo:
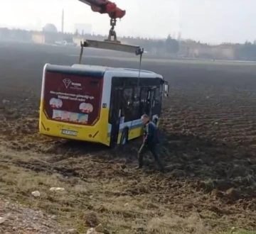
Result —
POLYGON ((110 146, 114 147, 117 145, 118 134, 119 134, 119 125, 121 120, 121 112, 122 112, 122 88, 113 88, 111 99, 110 99, 110 124, 111 135, 110 135, 110 146))

